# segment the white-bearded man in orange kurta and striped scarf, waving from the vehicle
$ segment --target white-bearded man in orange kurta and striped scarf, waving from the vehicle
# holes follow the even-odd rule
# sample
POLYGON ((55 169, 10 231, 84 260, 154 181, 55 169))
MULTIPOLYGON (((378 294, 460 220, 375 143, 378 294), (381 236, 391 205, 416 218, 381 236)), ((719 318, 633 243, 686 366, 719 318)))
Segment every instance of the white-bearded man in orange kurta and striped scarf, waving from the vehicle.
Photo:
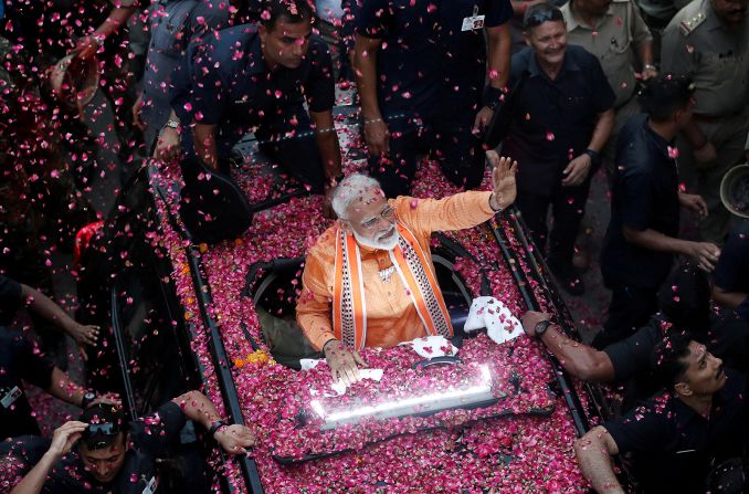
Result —
POLYGON ((297 322, 325 358, 334 380, 359 379, 357 350, 389 348, 423 336, 452 336, 434 276, 433 231, 473 228, 515 200, 516 164, 487 151, 493 191, 434 200, 388 200, 380 183, 352 175, 335 189, 338 216, 309 250, 297 322))

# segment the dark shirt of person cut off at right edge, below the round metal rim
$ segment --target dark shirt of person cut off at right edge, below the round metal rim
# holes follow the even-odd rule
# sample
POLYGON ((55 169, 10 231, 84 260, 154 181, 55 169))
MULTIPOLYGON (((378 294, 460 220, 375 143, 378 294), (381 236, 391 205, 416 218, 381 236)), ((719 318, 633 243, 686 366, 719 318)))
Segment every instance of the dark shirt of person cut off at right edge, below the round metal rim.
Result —
MULTIPOLYGON (((713 281, 727 292, 749 293, 749 222, 731 232, 720 251, 713 281)), ((749 320, 749 297, 736 307, 736 313, 749 320)))

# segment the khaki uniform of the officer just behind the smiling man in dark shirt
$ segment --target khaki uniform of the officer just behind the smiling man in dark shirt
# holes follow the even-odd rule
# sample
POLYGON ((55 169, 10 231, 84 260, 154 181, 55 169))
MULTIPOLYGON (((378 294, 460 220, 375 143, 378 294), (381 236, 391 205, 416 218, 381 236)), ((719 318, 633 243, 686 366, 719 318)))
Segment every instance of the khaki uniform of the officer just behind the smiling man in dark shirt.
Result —
POLYGON ((652 42, 653 36, 632 0, 611 2, 609 11, 593 28, 578 20, 573 1, 570 0, 561 8, 567 21, 567 42, 578 44, 595 55, 616 95, 616 119, 602 153, 606 172, 611 177, 619 133, 632 115, 640 113, 640 104, 635 97, 635 62, 639 50, 643 43, 652 42))

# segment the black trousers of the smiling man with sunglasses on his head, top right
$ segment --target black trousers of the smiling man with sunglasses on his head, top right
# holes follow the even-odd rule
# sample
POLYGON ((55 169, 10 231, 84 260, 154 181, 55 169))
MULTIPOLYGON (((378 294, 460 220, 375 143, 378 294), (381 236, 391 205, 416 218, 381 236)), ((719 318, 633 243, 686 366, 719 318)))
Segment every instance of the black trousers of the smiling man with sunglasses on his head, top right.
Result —
POLYGON ((515 203, 530 229, 536 245, 548 255, 549 264, 568 266, 572 263, 574 239, 580 221, 586 213, 586 201, 590 192, 590 177, 577 187, 558 187, 553 192, 538 192, 518 189, 515 203), (547 225, 547 216, 551 208, 551 231, 547 225))

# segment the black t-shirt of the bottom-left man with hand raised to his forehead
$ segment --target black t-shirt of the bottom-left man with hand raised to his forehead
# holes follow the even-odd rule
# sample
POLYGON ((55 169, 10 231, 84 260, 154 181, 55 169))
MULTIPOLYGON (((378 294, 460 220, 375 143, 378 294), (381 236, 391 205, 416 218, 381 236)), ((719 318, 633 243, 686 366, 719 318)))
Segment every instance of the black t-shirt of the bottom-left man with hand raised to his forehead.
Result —
POLYGON ((84 470, 77 452, 73 451, 52 467, 44 492, 140 494, 152 479, 157 479, 156 459, 165 455, 173 444, 186 421, 179 406, 169 401, 131 424, 133 446, 125 453, 125 463, 114 481, 107 484, 96 482, 84 470))

